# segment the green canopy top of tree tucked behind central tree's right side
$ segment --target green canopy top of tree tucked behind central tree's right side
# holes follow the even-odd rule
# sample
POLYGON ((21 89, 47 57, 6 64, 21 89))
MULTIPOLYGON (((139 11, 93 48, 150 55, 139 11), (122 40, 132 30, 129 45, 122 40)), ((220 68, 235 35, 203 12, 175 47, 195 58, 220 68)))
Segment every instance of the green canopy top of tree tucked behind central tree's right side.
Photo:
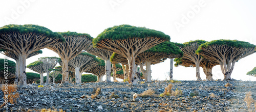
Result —
POLYGON ((144 52, 160 52, 160 53, 183 55, 183 52, 180 50, 180 48, 175 43, 170 41, 162 42, 144 52))

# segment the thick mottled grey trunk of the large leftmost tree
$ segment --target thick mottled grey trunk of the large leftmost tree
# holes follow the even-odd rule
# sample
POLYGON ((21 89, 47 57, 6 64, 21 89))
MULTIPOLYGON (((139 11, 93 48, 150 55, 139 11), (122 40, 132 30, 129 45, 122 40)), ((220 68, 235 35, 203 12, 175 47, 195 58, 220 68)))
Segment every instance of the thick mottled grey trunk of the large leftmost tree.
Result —
POLYGON ((27 85, 27 75, 26 75, 26 59, 27 59, 27 55, 26 54, 20 54, 18 56, 19 58, 19 71, 18 71, 18 86, 23 86, 23 85, 27 85))

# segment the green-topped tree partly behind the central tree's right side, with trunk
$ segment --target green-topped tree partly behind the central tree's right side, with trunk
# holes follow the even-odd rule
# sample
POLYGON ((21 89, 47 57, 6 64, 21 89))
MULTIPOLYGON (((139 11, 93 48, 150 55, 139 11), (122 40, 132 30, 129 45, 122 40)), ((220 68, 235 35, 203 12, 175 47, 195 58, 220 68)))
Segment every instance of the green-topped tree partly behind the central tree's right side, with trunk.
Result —
MULTIPOLYGON (((146 70, 140 65, 141 71, 145 76, 145 81, 151 82, 151 65, 161 63, 167 58, 182 57, 183 52, 173 42, 165 41, 160 43, 138 55, 137 58, 143 60, 146 65, 146 70)), ((141 64, 141 63, 140 63, 141 64)))

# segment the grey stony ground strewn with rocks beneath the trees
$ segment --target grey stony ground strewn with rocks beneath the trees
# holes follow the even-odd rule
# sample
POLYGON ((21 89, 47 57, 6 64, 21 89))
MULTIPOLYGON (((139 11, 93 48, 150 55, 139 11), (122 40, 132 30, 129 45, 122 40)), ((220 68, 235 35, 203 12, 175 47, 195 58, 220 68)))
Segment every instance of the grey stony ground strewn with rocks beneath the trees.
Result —
MULTIPOLYGON (((181 81, 173 84, 172 90, 182 90, 181 96, 163 96, 169 81, 154 81, 130 85, 127 82, 94 82, 79 85, 32 84, 18 88, 20 97, 17 104, 8 104, 0 111, 40 111, 42 108, 63 109, 65 111, 248 111, 244 102, 245 94, 252 92, 256 100, 255 81, 181 81), (225 87, 226 83, 232 86, 225 87), (94 88, 101 88, 101 93, 92 99, 94 88), (153 89, 158 97, 137 97, 148 89, 153 89), (191 93, 199 93, 190 97, 191 93), (117 95, 112 98, 112 94, 117 95)), ((0 92, 0 103, 4 93, 0 92)), ((253 106, 252 106, 253 107, 253 106)))

